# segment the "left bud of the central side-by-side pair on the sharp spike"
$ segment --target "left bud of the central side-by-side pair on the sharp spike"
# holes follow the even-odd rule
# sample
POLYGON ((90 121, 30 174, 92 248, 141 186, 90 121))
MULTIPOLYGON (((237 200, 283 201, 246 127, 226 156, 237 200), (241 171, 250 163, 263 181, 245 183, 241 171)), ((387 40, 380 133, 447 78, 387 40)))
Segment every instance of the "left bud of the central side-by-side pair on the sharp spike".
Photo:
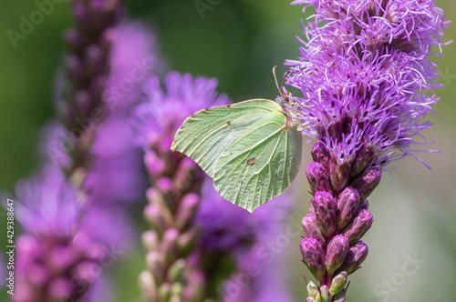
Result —
POLYGON ((336 231, 336 202, 334 197, 326 191, 318 191, 310 201, 314 207, 316 225, 326 238, 330 238, 336 231))

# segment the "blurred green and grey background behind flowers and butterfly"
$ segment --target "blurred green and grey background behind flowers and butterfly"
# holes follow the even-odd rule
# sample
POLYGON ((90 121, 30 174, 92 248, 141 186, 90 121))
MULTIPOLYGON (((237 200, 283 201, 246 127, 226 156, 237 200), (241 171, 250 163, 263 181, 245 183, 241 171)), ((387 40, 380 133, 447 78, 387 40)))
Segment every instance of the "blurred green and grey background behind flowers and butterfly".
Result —
MULTIPOLYGON (((274 98, 277 91, 271 69, 278 65, 277 75, 281 77, 286 70, 284 60, 298 55, 295 35, 302 31, 301 7, 287 1, 212 3, 217 4, 202 18, 193 1, 128 2, 132 18, 142 18, 158 29, 162 54, 171 69, 219 78, 219 91, 228 93, 234 101, 274 98)), ((444 8, 447 19, 456 19, 453 0, 436 3, 444 8)), ((67 4, 55 5, 43 23, 14 48, 6 31, 18 31, 20 16, 34 10, 33 1, 0 3, 0 187, 10 192, 17 179, 39 165, 38 133, 56 114, 52 79, 62 54, 62 33, 72 23, 67 4)), ((450 26, 447 40, 456 36, 455 30, 450 26)), ((393 175, 384 174, 369 199, 375 219, 364 238, 369 256, 363 268, 350 277, 349 301, 456 301, 455 47, 446 46, 445 57, 439 59, 443 75, 440 83, 444 86, 436 93, 442 101, 434 107, 435 116, 429 116, 436 125, 425 132, 435 140, 432 148, 442 153, 422 155, 432 171, 406 158, 398 163, 393 175), (415 255, 422 261, 405 276, 402 269, 415 255), (387 288, 388 281, 392 287, 387 299, 377 290, 387 288)), ((309 147, 306 150, 308 154, 309 147)), ((306 155, 305 165, 308 161, 306 155)), ((292 190, 297 216, 306 213, 309 196, 307 185, 301 185, 306 184, 304 173, 295 182, 298 185, 292 190)), ((0 212, 0 227, 3 232, 4 212, 0 212)), ((286 248, 283 261, 290 271, 289 285, 295 300, 304 301, 306 271, 300 262, 299 239, 294 238, 286 248)), ((5 246, 2 240, 0 248, 5 246)), ((119 301, 139 299, 136 276, 141 267, 142 255, 138 252, 112 268, 119 280, 119 301)), ((0 294, 0 300, 4 299, 0 294)))

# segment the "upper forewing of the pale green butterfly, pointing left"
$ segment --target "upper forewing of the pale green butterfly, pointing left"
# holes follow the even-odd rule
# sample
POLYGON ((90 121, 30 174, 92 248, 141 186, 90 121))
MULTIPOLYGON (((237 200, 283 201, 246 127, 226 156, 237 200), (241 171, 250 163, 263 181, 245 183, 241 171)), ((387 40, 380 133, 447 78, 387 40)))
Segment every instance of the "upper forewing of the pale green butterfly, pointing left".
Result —
POLYGON ((200 110, 183 122, 171 149, 189 156, 213 177, 213 167, 225 148, 259 119, 280 110, 281 106, 266 99, 200 110))

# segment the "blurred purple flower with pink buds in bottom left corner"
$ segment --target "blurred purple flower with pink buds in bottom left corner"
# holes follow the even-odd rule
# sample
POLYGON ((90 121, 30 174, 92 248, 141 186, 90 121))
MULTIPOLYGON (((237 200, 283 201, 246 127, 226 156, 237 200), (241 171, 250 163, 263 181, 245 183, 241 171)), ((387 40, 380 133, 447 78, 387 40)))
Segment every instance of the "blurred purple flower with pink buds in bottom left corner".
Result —
POLYGON ((83 206, 84 199, 55 166, 20 181, 16 196, 16 217, 24 234, 16 242, 14 301, 88 297, 88 287, 98 284, 94 272, 119 257, 129 228, 106 208, 83 206), (124 234, 112 232, 114 224, 124 234))

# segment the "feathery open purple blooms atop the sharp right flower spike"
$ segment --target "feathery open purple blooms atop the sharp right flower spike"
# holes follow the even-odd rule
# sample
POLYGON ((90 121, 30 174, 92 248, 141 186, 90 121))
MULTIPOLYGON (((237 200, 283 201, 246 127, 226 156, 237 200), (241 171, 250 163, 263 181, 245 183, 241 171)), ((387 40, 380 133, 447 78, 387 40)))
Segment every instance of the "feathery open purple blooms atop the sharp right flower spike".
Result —
POLYGON ((438 87, 429 56, 448 25, 441 9, 430 0, 294 4, 316 5, 305 26, 309 42, 298 61, 287 62, 288 84, 303 93, 295 97, 299 118, 313 125, 306 134, 317 136, 339 164, 365 149, 378 166, 414 156, 416 137, 431 125, 423 118, 438 100, 424 90, 438 87), (399 152, 389 152, 393 147, 399 152))

